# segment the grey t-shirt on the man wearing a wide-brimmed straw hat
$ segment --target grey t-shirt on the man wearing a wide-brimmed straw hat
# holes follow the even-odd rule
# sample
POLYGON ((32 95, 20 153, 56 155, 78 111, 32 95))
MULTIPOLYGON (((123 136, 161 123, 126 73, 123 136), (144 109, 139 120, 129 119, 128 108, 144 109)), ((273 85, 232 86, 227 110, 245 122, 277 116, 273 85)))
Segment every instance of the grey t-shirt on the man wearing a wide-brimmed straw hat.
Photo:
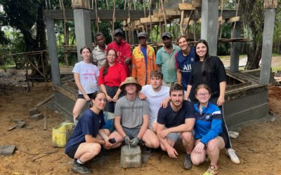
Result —
POLYGON ((117 100, 115 116, 121 116, 122 127, 140 128, 143 125, 143 116, 149 115, 148 102, 136 99, 130 101, 126 96, 117 100))

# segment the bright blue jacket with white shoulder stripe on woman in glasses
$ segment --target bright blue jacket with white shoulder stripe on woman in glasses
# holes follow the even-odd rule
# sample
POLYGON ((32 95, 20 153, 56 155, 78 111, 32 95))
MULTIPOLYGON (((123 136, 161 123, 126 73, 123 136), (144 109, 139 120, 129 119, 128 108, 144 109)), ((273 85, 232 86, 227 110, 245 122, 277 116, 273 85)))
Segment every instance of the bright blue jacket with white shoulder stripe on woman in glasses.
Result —
POLYGON ((208 103, 203 107, 202 113, 199 104, 194 104, 195 109, 195 139, 200 139, 203 144, 207 144, 211 139, 216 138, 223 132, 221 110, 218 106, 208 103))

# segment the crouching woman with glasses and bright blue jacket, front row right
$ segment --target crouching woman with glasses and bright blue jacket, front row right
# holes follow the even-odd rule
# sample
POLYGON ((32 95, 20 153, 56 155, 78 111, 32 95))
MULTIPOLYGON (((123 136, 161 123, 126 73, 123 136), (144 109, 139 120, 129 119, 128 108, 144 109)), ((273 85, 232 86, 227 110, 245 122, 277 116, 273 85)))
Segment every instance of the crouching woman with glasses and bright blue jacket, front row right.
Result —
POLYGON ((191 153, 194 165, 200 165, 209 155, 211 165, 204 174, 218 173, 218 157, 220 149, 224 148, 226 140, 222 135, 222 116, 218 106, 209 102, 211 90, 207 85, 198 85, 195 97, 198 103, 195 108, 195 148, 191 153))

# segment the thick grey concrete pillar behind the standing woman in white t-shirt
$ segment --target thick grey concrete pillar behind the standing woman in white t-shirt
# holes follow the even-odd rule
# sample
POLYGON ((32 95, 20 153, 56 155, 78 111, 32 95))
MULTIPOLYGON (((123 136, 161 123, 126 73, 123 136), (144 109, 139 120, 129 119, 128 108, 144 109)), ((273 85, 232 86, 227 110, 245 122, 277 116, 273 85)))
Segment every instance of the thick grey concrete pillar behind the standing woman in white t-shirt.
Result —
POLYGON ((81 58, 80 49, 84 46, 92 49, 90 10, 77 8, 73 10, 73 13, 75 37, 77 42, 77 58, 79 62, 83 60, 81 58))

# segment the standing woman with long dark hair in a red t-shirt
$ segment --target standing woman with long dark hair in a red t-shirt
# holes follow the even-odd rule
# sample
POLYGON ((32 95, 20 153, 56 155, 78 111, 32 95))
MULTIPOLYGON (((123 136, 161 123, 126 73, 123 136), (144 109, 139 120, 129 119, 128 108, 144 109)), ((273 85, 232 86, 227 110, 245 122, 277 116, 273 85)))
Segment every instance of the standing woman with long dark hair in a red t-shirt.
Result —
POLYGON ((105 65, 100 68, 100 76, 98 78, 100 90, 105 92, 107 99, 105 111, 111 113, 115 111, 117 99, 124 96, 124 92, 119 89, 119 86, 127 77, 124 66, 118 63, 115 64, 116 55, 115 50, 108 50, 105 65))

